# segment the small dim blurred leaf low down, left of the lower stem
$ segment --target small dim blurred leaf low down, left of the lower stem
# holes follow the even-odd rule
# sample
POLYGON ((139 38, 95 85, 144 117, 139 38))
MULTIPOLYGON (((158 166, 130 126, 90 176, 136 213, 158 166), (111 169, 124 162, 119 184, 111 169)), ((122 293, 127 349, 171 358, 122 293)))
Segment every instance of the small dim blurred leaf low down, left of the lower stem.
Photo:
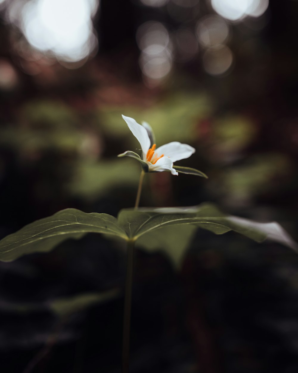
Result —
POLYGON ((59 317, 85 310, 93 304, 108 301, 117 297, 118 289, 112 289, 102 293, 80 294, 73 297, 59 298, 49 302, 50 308, 59 317))

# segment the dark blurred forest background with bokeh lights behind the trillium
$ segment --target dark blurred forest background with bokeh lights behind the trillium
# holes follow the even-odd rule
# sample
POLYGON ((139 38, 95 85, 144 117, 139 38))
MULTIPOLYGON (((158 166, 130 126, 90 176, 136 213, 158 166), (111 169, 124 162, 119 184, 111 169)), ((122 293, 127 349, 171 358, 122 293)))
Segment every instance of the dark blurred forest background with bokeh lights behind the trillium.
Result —
MULTIPOLYGON (((295 0, 0 0, 1 238, 133 206, 124 114, 209 176, 146 175, 140 206, 212 201, 298 239, 297 16, 295 0)), ((136 252, 131 372, 297 372, 297 254, 177 232, 136 252)), ((96 235, 0 263, 1 372, 120 372, 125 271, 96 235)))

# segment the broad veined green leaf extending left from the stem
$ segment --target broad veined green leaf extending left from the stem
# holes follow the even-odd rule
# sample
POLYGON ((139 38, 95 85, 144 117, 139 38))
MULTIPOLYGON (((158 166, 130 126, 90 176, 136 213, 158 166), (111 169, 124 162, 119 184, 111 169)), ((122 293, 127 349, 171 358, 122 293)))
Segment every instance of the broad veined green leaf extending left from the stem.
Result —
POLYGON ((68 238, 79 239, 89 232, 127 239, 114 216, 66 209, 36 220, 3 238, 0 241, 0 260, 12 261, 25 254, 50 251, 68 238))

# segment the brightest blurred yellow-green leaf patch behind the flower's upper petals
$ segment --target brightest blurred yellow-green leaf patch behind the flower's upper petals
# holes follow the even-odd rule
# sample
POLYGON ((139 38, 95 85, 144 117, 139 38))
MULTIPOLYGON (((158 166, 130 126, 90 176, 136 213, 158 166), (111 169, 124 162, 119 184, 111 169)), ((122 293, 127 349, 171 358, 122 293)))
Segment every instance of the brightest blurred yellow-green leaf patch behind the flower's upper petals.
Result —
POLYGON ((129 129, 121 114, 133 117, 138 123, 148 122, 155 133, 156 144, 160 146, 169 141, 193 141, 194 133, 198 131, 197 121, 209 115, 210 110, 210 100, 206 95, 179 92, 146 110, 127 106, 106 107, 101 109, 99 117, 105 131, 112 136, 127 135, 128 145, 133 149, 137 142, 133 136, 129 137, 129 129))

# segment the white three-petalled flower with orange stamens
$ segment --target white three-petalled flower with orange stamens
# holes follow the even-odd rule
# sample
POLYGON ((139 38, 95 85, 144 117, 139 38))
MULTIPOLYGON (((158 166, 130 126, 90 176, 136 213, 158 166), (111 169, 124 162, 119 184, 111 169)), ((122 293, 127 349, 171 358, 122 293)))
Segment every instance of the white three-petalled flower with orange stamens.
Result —
MULTIPOLYGON (((181 142, 178 141, 169 142, 168 144, 156 148, 156 144, 153 144, 153 142, 155 141, 153 131, 148 123, 143 122, 142 125, 140 125, 133 118, 124 115, 122 115, 122 117, 129 126, 130 131, 137 138, 141 145, 142 159, 132 151, 126 151, 123 154, 119 154, 119 156, 129 156, 136 159, 139 158, 137 160, 139 160, 143 164, 143 167, 147 168, 148 166, 149 172, 171 171, 172 175, 178 175, 178 172, 173 168, 173 163, 180 159, 190 157, 191 154, 193 154, 196 151, 190 145, 181 144, 181 142)), ((187 169, 188 167, 178 168, 187 169)))

